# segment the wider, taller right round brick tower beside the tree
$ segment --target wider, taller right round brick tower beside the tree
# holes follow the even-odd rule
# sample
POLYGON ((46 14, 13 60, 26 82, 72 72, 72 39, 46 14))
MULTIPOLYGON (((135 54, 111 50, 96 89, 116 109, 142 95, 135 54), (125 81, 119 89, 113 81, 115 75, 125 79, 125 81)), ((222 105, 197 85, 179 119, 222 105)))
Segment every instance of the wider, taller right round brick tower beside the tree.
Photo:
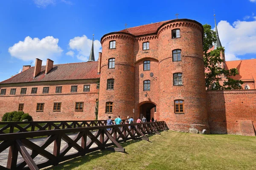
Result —
POLYGON ((158 28, 157 34, 160 120, 166 121, 172 130, 186 131, 191 127, 208 130, 203 26, 194 20, 173 20, 158 28), (173 57, 177 56, 176 52, 180 52, 180 58, 173 57), (178 79, 178 85, 177 79, 174 80, 177 73, 178 76, 182 74, 182 82, 178 79), (181 101, 182 108, 177 107, 175 101, 181 101))

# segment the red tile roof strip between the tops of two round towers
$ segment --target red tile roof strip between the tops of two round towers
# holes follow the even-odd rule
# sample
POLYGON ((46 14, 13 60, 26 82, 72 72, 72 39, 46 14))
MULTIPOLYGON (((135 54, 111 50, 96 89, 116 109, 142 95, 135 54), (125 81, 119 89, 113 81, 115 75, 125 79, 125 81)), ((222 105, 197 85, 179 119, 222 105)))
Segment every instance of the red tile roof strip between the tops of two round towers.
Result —
POLYGON ((131 27, 131 28, 123 29, 118 32, 130 33, 135 36, 145 35, 145 34, 153 34, 153 33, 157 32, 157 29, 161 25, 163 25, 164 23, 167 23, 169 21, 171 21, 171 20, 162 21, 162 22, 158 22, 158 23, 151 23, 151 24, 147 24, 147 25, 143 25, 143 26, 131 27))

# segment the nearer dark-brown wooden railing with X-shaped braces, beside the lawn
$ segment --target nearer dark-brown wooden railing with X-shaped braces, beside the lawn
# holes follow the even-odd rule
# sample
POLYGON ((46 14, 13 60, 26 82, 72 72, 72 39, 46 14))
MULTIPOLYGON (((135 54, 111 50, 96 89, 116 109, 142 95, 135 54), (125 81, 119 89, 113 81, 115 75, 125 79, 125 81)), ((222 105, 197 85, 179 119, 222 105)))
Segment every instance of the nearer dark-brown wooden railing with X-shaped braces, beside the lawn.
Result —
POLYGON ((120 142, 137 139, 140 136, 142 136, 140 139, 149 140, 145 134, 160 134, 159 130, 165 129, 165 122, 160 121, 0 134, 0 141, 3 141, 0 143, 0 158, 9 148, 8 158, 7 156, 3 158, 7 161, 6 167, 1 165, 0 169, 38 170, 96 150, 125 152, 120 142), (70 133, 73 133, 73 137, 70 133), (34 143, 38 139, 30 139, 39 136, 49 137, 40 138, 40 144, 34 143), (109 147, 112 145, 116 147, 109 147), (67 154, 71 148, 74 148, 75 152, 67 154), (21 156, 18 156, 18 153, 21 156), (45 160, 37 161, 35 159, 37 156, 43 156, 45 160))

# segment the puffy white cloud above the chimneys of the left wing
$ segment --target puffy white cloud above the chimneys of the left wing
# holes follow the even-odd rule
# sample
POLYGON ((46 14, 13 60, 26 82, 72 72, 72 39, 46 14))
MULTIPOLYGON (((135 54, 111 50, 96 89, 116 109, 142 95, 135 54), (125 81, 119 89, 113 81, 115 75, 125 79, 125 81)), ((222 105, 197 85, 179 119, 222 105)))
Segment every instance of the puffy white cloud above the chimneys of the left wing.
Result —
POLYGON ((23 61, 34 61, 35 58, 39 58, 43 60, 43 63, 46 63, 47 58, 55 59, 61 55, 63 50, 58 46, 58 38, 48 36, 39 40, 28 36, 24 41, 19 41, 10 47, 8 51, 12 57, 23 61))

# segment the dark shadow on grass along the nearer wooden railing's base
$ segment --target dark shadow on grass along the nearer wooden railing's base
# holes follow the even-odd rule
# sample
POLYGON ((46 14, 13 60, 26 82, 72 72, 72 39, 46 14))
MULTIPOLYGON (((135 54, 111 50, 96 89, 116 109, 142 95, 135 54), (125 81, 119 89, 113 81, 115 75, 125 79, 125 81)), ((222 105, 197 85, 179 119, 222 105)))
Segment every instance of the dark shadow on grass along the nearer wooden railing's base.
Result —
MULTIPOLYGON (((154 133, 148 134, 147 137, 149 138, 149 137, 151 137, 153 135, 155 135, 155 134, 154 133)), ((134 143, 140 142, 141 140, 142 140, 141 138, 136 138, 134 140, 131 139, 131 140, 127 141, 127 142, 120 143, 120 145, 125 148, 129 144, 134 144, 134 143)), ((150 141, 148 141, 148 142, 150 142, 150 141)), ((112 145, 111 147, 115 147, 115 145, 112 145)), ((105 156, 105 155, 108 155, 110 153, 113 153, 113 151, 97 150, 97 151, 92 152, 92 153, 87 153, 84 156, 79 156, 77 158, 74 158, 74 159, 71 159, 71 160, 68 160, 68 161, 64 161, 64 162, 58 164, 57 166, 49 167, 49 168, 46 168, 44 170, 62 170, 62 169, 70 170, 70 169, 79 167, 82 164, 85 164, 87 162, 90 162, 93 159, 97 159, 97 158, 99 158, 101 156, 105 156)), ((129 153, 127 153, 125 151, 124 154, 129 154, 129 153)))

